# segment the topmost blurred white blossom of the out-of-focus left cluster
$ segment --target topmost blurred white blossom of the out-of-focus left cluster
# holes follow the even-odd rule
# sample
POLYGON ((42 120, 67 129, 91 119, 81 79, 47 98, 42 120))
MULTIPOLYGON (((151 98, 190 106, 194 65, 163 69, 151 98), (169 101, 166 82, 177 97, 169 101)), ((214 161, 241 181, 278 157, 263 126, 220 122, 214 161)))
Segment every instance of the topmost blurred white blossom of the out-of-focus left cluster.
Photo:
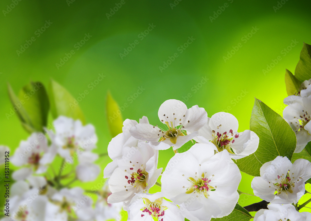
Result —
POLYGON ((58 154, 72 162, 74 153, 91 151, 96 147, 97 136, 91 124, 82 125, 80 120, 59 116, 53 122, 55 133, 49 131, 52 142, 58 147, 58 154))

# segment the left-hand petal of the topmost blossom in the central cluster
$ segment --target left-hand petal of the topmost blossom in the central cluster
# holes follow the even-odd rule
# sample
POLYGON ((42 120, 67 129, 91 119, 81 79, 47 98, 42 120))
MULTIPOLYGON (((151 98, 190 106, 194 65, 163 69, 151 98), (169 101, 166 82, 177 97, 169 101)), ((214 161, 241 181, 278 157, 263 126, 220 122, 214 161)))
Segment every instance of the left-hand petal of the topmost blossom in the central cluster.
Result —
POLYGON ((130 133, 134 138, 143 141, 158 141, 161 138, 159 128, 151 124, 137 124, 130 129, 130 133), (158 135, 159 134, 159 135, 158 135))

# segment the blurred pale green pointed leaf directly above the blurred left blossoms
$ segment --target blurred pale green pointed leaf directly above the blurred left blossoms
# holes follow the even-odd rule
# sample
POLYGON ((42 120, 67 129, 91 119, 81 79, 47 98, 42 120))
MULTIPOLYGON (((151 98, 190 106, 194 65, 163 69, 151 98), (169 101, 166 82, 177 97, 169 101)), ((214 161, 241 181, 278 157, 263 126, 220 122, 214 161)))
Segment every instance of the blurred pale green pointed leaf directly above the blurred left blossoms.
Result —
POLYGON ((54 119, 63 115, 74 120, 81 120, 82 124, 85 124, 85 117, 77 100, 63 86, 51 79, 48 94, 54 119))

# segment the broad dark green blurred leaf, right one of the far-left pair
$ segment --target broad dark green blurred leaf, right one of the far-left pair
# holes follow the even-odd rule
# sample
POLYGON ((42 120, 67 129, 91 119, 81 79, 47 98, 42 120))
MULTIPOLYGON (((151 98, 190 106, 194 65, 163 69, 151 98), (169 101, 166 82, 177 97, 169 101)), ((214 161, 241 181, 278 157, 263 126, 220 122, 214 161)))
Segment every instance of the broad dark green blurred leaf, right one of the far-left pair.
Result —
POLYGON ((23 108, 26 110, 31 124, 22 124, 26 130, 30 126, 35 131, 43 131, 47 125, 49 113, 49 98, 41 82, 30 82, 24 86, 18 95, 19 99, 25 101, 23 108))

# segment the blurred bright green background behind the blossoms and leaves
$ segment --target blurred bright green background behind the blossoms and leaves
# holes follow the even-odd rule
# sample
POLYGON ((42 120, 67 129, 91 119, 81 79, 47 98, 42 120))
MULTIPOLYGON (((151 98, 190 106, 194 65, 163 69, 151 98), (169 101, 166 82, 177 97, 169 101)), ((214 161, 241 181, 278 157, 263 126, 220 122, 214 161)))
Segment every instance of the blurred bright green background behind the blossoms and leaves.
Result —
MULTIPOLYGON (((17 93, 31 80, 47 85, 51 78, 76 99, 88 90, 79 106, 95 125, 98 153, 107 152, 111 140, 105 114, 108 90, 121 109, 127 106, 123 119, 145 115, 157 124, 160 104, 174 98, 188 107, 204 107, 209 116, 230 112, 239 120, 239 131, 249 129, 254 97, 282 113, 285 68, 294 72, 303 42, 311 43, 310 8, 310 1, 301 0, 2 0, 0 143, 14 150, 28 137, 16 114, 6 116, 12 108, 6 83, 17 93), (121 5, 118 10, 116 4, 121 5), (31 45, 23 50, 27 42, 31 45), (174 61, 161 70, 174 54, 174 61), (267 65, 278 56, 281 60, 270 70, 267 65), (99 74, 105 76, 100 82, 99 74)), ((159 167, 173 155, 172 150, 160 151, 159 167)), ((99 160, 102 169, 109 162, 108 157, 99 160)), ((239 189, 252 193, 251 180, 243 174, 239 189)), ((242 206, 258 201, 248 195, 239 200, 242 206)))

